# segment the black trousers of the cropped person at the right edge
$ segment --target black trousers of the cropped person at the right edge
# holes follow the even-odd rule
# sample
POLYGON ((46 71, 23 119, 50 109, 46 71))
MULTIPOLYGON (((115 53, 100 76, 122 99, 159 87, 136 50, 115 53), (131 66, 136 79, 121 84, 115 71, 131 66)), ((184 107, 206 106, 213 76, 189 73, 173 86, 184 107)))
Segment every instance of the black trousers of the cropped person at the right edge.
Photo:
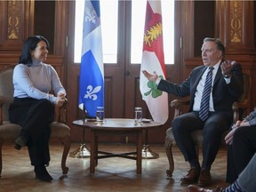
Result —
POLYGON ((232 145, 228 145, 228 183, 233 183, 249 164, 256 152, 256 126, 244 126, 236 129, 232 145))

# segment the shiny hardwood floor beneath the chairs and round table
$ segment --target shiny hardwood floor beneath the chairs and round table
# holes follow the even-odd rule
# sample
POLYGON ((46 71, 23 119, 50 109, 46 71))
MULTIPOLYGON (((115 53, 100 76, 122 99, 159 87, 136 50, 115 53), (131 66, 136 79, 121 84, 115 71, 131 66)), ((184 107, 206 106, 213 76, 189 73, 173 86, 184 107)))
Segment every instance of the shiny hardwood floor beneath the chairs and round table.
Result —
MULTIPOLYGON (((88 145, 87 145, 88 146, 88 145)), ((71 150, 79 147, 73 143, 71 150)), ((68 175, 62 175, 60 158, 62 147, 51 144, 52 161, 48 172, 52 175, 52 182, 46 183, 35 179, 34 167, 30 165, 28 149, 21 148, 17 151, 11 145, 3 147, 3 171, 0 179, 0 192, 46 192, 46 191, 186 191, 186 186, 180 185, 180 178, 188 172, 188 164, 178 148, 174 148, 175 169, 172 178, 167 178, 166 169, 168 160, 165 156, 164 145, 150 146, 150 149, 159 158, 143 159, 142 174, 136 174, 136 162, 120 157, 100 159, 94 174, 90 174, 89 158, 74 158, 68 156, 68 175)), ((125 144, 100 144, 99 149, 109 151, 131 151, 132 145, 125 144)), ((212 164, 212 186, 227 186, 226 177, 226 149, 221 148, 212 164)))

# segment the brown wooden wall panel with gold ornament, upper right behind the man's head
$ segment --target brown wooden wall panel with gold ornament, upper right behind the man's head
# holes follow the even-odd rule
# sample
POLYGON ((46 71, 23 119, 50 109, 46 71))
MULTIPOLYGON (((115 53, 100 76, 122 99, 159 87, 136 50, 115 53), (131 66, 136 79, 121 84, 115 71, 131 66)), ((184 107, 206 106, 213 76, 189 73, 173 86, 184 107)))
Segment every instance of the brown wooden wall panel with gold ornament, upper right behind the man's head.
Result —
POLYGON ((216 36, 226 52, 253 54, 254 1, 216 1, 216 36))

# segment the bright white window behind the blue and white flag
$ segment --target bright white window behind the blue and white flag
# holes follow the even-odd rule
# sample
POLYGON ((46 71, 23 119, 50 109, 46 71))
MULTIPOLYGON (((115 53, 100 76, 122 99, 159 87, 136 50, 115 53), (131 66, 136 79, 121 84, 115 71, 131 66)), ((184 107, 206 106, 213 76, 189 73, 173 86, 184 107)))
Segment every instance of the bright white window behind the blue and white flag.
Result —
MULTIPOLYGON (((76 0, 75 48, 74 61, 81 62, 84 0, 76 0)), ((115 0, 100 1, 100 23, 102 51, 104 63, 116 63, 117 52, 117 12, 118 2, 115 0)))

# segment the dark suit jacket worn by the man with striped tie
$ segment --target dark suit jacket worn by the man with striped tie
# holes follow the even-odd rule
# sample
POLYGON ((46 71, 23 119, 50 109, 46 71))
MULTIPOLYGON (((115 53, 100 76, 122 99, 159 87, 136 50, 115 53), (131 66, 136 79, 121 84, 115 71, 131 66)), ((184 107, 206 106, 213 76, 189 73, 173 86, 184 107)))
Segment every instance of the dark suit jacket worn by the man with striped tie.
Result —
MULTIPOLYGON (((201 76, 203 76, 206 68, 207 67, 205 66, 194 68, 188 76, 188 79, 183 81, 181 84, 173 84, 172 82, 162 79, 158 84, 157 89, 178 97, 186 97, 190 95, 189 111, 192 111, 196 86, 199 83, 201 76)), ((239 63, 236 63, 232 68, 232 76, 229 84, 226 83, 222 76, 221 68, 218 69, 212 87, 213 106, 216 112, 226 111, 232 113, 233 102, 238 100, 243 92, 244 78, 242 67, 239 63)))

